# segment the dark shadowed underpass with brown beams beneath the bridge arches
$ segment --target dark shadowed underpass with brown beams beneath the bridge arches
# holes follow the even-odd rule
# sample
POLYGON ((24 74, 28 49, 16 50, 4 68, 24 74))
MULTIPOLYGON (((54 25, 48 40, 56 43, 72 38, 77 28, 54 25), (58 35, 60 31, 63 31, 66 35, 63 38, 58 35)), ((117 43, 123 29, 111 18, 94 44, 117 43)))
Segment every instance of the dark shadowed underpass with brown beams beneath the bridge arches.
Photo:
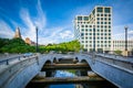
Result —
POLYGON ((92 72, 89 64, 83 59, 80 63, 75 59, 54 59, 54 62, 47 61, 41 72, 45 73, 45 76, 37 75, 27 86, 27 88, 44 88, 49 85, 62 85, 62 84, 81 84, 83 88, 115 88, 114 85, 98 76, 92 72), (73 63, 74 61, 74 63, 73 63), (75 77, 53 77, 55 70, 76 70, 75 77), (79 74, 80 73, 80 74, 79 74))

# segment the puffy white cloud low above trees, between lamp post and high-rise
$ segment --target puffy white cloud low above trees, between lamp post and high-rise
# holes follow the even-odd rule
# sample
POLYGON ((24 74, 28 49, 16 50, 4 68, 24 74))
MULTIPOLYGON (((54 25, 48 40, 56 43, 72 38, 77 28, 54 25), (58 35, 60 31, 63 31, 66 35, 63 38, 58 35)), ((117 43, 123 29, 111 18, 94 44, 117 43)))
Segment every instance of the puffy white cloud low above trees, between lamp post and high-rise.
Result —
POLYGON ((47 29, 48 34, 43 34, 43 36, 39 36, 39 42, 41 44, 49 44, 49 43, 60 43, 60 42, 66 42, 70 40, 73 40, 73 33, 70 30, 66 30, 66 28, 53 28, 53 29, 47 29))

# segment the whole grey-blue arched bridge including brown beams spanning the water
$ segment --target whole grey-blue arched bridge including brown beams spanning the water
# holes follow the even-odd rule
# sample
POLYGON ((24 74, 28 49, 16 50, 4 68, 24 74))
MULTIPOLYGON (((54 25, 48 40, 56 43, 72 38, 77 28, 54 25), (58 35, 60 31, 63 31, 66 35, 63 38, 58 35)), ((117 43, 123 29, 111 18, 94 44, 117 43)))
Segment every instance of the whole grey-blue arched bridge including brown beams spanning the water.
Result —
POLYGON ((133 88, 133 58, 108 54, 35 54, 28 57, 18 55, 0 61, 0 88, 24 88, 30 81, 34 84, 57 81, 60 84, 60 80, 63 82, 79 82, 81 80, 92 82, 104 79, 120 88, 133 88), (66 65, 65 62, 70 58, 72 63, 66 65), (66 68, 84 68, 100 77, 96 76, 95 79, 93 76, 63 79, 49 77, 50 70, 66 68), (42 70, 48 70, 47 77, 39 77, 38 80, 42 70))

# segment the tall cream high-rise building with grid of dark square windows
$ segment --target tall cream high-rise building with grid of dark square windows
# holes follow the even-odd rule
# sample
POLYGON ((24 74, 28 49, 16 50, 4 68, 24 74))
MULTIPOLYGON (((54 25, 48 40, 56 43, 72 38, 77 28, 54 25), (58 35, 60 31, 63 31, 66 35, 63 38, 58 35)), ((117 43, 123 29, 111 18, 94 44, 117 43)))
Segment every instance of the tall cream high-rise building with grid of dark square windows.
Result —
POLYGON ((112 51, 111 32, 111 7, 96 6, 89 15, 76 15, 74 19, 74 36, 88 52, 112 51))

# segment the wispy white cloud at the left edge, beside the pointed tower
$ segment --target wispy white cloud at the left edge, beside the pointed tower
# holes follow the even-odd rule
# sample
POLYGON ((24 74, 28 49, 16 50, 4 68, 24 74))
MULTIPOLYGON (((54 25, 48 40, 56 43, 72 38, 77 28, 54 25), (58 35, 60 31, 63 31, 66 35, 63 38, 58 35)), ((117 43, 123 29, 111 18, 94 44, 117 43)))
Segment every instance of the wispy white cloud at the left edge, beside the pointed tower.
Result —
POLYGON ((4 21, 0 21, 0 37, 11 38, 13 35, 12 29, 4 21))

